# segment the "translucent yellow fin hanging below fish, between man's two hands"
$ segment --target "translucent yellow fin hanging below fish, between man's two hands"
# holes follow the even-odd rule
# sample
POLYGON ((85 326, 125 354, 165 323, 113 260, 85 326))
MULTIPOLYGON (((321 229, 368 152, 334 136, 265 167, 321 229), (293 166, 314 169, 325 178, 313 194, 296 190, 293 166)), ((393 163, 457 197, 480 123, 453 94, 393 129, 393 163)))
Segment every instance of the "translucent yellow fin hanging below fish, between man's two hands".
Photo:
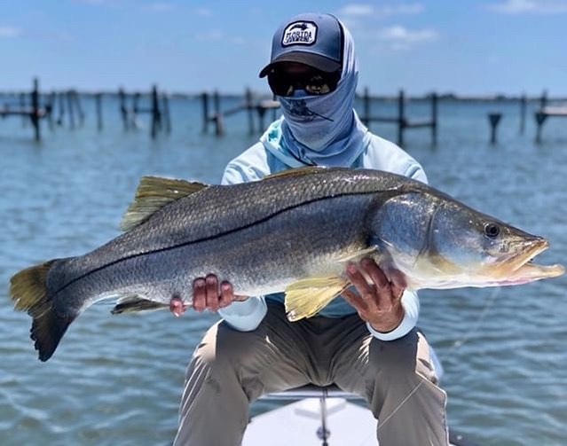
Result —
POLYGON ((286 288, 287 319, 297 321, 311 317, 327 306, 349 286, 345 278, 303 278, 286 288))

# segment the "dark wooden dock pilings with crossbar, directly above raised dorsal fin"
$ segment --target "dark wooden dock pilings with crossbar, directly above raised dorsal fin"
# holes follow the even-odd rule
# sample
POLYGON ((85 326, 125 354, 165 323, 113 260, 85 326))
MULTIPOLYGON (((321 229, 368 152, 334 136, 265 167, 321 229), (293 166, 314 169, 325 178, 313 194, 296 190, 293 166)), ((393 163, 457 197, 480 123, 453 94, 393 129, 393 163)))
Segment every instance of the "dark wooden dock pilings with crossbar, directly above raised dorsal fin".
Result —
MULTIPOLYGON (((159 131, 164 130, 167 134, 171 132, 171 121, 169 120, 169 97, 166 94, 158 93, 157 85, 152 86, 149 93, 149 105, 140 106, 139 101, 143 96, 148 96, 145 93, 136 91, 130 93, 130 106, 129 95, 122 89, 118 90, 118 99, 120 114, 122 116, 122 125, 125 131, 131 129, 138 129, 138 114, 150 115, 150 136, 152 139, 157 137, 159 131)), ((101 109, 99 105, 102 98, 96 98, 97 110, 101 109)), ((97 112, 99 113, 99 112, 97 112)), ((102 114, 99 114, 98 128, 102 129, 102 114)))

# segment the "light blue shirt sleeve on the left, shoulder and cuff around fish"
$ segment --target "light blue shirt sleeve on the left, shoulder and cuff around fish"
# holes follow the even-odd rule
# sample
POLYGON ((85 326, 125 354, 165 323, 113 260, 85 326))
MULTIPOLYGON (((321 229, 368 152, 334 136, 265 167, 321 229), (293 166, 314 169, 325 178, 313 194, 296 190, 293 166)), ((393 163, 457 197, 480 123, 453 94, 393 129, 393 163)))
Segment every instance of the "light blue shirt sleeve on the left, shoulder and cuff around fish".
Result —
MULTIPOLYGON (((249 159, 256 155, 253 151, 255 147, 253 145, 247 152, 232 160, 226 166, 221 184, 246 183, 259 180, 264 176, 261 171, 254 167, 255 163, 249 159), (252 156, 247 157, 247 154, 252 156)), ((228 307, 219 309, 218 314, 235 330, 251 332, 260 325, 267 311, 268 307, 264 296, 250 296, 246 301, 235 301, 228 307)))

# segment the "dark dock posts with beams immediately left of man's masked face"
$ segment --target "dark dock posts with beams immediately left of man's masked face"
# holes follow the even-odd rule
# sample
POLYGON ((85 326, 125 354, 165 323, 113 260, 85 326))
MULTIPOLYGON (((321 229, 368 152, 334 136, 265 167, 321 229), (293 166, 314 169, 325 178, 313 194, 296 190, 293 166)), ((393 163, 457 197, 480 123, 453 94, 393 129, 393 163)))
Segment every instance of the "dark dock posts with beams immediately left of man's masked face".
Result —
POLYGON ((213 112, 210 113, 209 102, 210 102, 209 92, 203 91, 201 93, 201 105, 202 105, 202 117, 203 117, 203 133, 208 133, 209 123, 215 126, 215 135, 217 137, 224 135, 224 118, 231 116, 232 114, 247 112, 248 113, 248 133, 254 135, 256 133, 255 126, 255 113, 258 120, 258 131, 264 129, 264 116, 269 110, 272 110, 273 119, 275 120, 275 113, 278 108, 280 108, 280 103, 271 99, 256 99, 254 94, 250 89, 246 89, 244 93, 244 101, 233 106, 228 110, 221 110, 220 95, 218 91, 214 91, 212 94, 213 112))

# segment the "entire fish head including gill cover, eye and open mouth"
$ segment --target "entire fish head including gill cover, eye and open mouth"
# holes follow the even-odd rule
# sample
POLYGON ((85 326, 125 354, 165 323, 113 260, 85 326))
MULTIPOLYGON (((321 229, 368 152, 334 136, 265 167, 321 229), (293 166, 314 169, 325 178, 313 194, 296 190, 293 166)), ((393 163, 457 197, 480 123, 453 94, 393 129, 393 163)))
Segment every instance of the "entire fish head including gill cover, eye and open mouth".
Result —
POLYGON ((477 212, 444 194, 413 192, 380 209, 376 245, 419 288, 520 285, 564 272, 533 257, 547 239, 477 212))

